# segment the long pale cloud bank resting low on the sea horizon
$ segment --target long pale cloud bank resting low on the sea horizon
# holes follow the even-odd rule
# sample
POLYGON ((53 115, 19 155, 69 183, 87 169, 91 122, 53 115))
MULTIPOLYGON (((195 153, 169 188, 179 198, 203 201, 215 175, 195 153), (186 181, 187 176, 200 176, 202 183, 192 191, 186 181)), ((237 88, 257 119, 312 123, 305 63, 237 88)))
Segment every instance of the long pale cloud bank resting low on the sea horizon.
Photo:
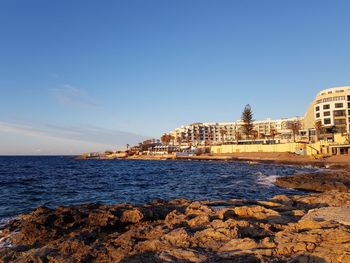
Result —
POLYGON ((136 144, 146 138, 91 125, 68 127, 2 121, 0 121, 0 135, 0 154, 77 154, 85 151, 118 149, 126 143, 136 144))

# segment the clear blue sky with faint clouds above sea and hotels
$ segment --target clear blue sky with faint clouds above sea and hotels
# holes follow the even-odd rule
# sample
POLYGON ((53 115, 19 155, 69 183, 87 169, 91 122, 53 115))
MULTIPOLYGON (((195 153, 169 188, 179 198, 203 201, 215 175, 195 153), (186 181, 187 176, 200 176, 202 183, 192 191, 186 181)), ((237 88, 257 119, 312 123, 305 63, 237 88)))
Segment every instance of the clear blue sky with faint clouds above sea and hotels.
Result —
POLYGON ((0 154, 115 150, 192 122, 303 116, 350 85, 349 1, 3 0, 0 154))

